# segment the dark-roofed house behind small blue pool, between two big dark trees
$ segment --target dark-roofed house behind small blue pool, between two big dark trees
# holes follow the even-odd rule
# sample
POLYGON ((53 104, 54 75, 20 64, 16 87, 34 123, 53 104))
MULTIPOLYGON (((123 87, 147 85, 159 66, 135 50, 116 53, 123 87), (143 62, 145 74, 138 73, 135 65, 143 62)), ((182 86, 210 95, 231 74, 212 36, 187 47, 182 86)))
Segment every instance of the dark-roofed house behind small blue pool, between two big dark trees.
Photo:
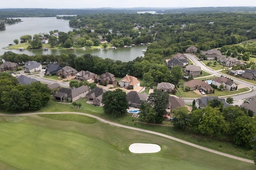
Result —
POLYGON ((148 95, 146 93, 130 91, 126 94, 126 99, 130 107, 140 108, 142 101, 146 101, 148 99, 148 95))

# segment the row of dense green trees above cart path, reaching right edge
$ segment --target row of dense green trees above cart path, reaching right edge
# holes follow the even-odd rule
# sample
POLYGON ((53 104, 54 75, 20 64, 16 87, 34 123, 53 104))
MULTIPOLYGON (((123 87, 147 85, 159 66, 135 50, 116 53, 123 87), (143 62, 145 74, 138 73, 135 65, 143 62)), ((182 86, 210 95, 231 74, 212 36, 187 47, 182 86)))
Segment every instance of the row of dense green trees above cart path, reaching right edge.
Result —
MULTIPOLYGON (((232 101, 230 101, 232 102, 232 101)), ((173 109, 174 127, 201 135, 210 135, 235 145, 251 148, 251 139, 256 135, 256 120, 239 106, 228 106, 218 99, 210 100, 208 106, 189 113, 186 107, 173 109)))

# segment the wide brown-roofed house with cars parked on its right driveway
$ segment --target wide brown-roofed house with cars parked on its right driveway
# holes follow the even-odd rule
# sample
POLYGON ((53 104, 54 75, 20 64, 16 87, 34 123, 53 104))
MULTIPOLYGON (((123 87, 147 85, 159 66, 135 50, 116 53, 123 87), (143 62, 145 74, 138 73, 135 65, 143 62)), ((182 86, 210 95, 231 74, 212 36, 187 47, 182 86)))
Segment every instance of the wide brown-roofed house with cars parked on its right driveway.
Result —
POLYGON ((200 81, 200 80, 190 80, 188 82, 185 82, 183 84, 183 89, 185 90, 185 87, 188 86, 190 87, 190 90, 204 90, 205 92, 212 93, 213 88, 206 82, 200 81))

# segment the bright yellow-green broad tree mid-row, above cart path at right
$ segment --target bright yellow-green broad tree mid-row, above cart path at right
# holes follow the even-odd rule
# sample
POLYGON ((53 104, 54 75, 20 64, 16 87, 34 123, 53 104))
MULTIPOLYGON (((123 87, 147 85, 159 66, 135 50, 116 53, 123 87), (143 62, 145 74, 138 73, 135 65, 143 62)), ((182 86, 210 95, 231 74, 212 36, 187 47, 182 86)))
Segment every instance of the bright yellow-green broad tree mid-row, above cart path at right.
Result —
POLYGON ((198 130, 202 134, 221 136, 226 133, 226 122, 218 108, 207 106, 203 109, 202 121, 198 125, 198 130))

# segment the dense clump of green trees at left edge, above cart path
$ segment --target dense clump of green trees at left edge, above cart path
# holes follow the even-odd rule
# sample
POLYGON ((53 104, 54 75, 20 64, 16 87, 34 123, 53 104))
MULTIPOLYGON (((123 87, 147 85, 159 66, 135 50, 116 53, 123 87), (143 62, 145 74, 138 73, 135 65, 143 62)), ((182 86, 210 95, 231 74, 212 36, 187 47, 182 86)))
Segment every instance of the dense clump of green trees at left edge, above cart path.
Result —
POLYGON ((0 108, 5 111, 37 110, 50 100, 51 90, 40 82, 20 85, 8 73, 0 74, 0 108))

